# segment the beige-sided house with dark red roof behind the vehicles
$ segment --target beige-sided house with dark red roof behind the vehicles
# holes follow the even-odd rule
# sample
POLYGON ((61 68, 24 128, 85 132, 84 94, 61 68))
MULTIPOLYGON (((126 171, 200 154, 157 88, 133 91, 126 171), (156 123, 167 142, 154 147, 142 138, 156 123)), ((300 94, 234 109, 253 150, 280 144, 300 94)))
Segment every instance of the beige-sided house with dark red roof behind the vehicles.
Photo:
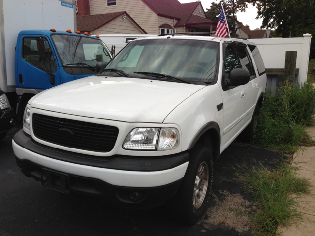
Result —
POLYGON ((97 30, 89 28, 91 34, 212 32, 217 26, 217 22, 207 19, 199 1, 182 4, 178 0, 77 0, 77 8, 78 30, 84 22, 91 21, 91 16, 107 19, 104 15, 126 12, 126 21, 119 17, 105 24, 103 21, 97 30))

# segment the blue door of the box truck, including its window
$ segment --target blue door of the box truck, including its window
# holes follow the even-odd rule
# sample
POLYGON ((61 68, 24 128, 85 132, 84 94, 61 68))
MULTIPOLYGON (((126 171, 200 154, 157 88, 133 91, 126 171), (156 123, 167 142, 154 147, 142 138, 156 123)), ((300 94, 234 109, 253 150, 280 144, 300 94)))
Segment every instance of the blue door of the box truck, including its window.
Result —
POLYGON ((43 37, 45 60, 38 60, 37 41, 39 35, 21 35, 20 47, 16 53, 16 87, 25 89, 45 90, 60 84, 59 68, 56 65, 56 56, 51 50, 51 42, 43 37), (55 81, 49 80, 50 71, 55 81))

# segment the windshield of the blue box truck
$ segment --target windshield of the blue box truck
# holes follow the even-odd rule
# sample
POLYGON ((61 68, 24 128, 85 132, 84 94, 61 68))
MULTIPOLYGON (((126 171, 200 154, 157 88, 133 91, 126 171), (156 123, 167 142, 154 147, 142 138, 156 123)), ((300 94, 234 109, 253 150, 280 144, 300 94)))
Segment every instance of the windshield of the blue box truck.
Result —
POLYGON ((112 59, 102 40, 62 34, 51 37, 63 66, 95 67, 97 62, 108 63, 112 59))

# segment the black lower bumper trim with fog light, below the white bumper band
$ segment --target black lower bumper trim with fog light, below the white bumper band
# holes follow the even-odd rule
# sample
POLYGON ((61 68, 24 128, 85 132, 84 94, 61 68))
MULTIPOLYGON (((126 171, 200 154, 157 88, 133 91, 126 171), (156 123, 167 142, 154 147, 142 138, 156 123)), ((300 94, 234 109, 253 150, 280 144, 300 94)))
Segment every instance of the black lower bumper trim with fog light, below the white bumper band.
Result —
MULTIPOLYGON (((42 179, 42 173, 45 167, 28 160, 15 158, 17 165, 24 175, 33 177, 36 181, 45 181, 45 179, 42 179)), ((95 178, 67 173, 63 174, 66 174, 70 178, 70 193, 73 192, 103 198, 106 202, 113 205, 131 209, 148 209, 163 205, 167 200, 175 196, 182 182, 182 179, 179 179, 173 183, 158 187, 122 187, 111 185, 95 178), (127 196, 132 192, 137 192, 141 198, 135 202, 131 201, 127 196)))

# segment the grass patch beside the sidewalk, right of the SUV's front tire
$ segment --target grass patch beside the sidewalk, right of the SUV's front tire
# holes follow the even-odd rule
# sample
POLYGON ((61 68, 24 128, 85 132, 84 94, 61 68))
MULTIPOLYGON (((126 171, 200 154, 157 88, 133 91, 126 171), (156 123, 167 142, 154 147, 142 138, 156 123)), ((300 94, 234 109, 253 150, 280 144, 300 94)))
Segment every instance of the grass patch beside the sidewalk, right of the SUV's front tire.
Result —
POLYGON ((252 216, 256 235, 279 234, 278 226, 301 219, 296 205, 301 193, 310 192, 310 182, 296 174, 297 167, 283 161, 273 171, 262 164, 250 168, 237 166, 235 170, 243 189, 250 193, 257 203, 252 216))

